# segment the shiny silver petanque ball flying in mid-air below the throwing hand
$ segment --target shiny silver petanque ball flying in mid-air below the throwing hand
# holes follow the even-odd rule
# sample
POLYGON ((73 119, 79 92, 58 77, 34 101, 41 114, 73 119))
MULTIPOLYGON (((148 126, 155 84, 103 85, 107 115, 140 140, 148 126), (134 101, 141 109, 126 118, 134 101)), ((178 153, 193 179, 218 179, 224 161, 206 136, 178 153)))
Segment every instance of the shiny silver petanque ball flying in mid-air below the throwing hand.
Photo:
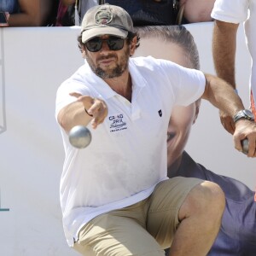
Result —
POLYGON ((83 126, 74 126, 69 131, 69 143, 75 148, 86 148, 91 142, 90 130, 83 126))

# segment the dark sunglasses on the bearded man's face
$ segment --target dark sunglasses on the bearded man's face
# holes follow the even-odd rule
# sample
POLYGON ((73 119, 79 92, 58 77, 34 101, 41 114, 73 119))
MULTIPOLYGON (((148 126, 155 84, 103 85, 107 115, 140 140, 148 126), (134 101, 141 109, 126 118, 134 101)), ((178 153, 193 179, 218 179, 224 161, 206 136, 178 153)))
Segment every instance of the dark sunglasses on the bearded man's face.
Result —
POLYGON ((102 38, 96 37, 86 42, 85 46, 88 50, 92 52, 96 52, 102 49, 103 42, 106 42, 108 44, 109 49, 119 50, 119 49, 123 49, 125 44, 125 39, 113 37, 113 36, 109 37, 108 39, 102 39, 102 38))

